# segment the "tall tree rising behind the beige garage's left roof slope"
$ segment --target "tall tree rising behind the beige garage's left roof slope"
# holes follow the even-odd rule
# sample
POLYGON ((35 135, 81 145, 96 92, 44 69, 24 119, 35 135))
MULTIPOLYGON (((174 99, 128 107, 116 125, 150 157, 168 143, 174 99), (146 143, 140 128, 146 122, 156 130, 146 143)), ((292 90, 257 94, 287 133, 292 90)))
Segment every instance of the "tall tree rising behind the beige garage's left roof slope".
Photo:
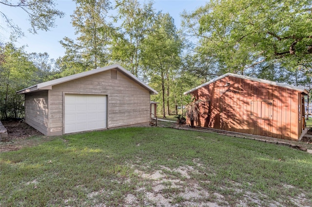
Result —
MULTIPOLYGON (((76 10, 72 17, 77 42, 64 37, 60 41, 66 49, 63 62, 81 62, 85 70, 96 69, 108 62, 108 44, 112 26, 106 22, 111 9, 108 0, 75 0, 76 10)), ((71 64, 71 67, 75 64, 71 64)))

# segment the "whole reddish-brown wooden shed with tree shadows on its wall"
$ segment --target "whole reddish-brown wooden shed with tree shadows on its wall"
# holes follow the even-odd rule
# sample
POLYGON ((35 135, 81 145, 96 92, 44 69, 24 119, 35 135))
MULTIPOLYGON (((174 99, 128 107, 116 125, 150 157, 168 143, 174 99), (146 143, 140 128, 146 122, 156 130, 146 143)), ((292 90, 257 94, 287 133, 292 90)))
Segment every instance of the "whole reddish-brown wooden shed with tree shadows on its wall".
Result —
POLYGON ((289 140, 304 128, 302 87, 227 73, 184 94, 198 103, 195 126, 289 140))

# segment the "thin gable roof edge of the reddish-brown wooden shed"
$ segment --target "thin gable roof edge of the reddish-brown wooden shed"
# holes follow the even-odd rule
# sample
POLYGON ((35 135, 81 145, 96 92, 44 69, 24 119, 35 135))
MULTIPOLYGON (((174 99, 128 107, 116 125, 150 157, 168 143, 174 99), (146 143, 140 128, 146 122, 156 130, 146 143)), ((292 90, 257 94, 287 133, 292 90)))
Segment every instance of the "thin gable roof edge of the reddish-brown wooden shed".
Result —
POLYGON ((217 80, 220 80, 224 77, 227 77, 227 76, 232 76, 232 77, 236 77, 236 78, 242 78, 242 79, 246 79, 246 80, 250 80, 250 81, 255 81, 255 82, 259 82, 259 83, 265 83, 265 84, 270 84, 270 85, 273 85, 273 86, 280 86, 280 87, 285 87, 285 88, 289 88, 289 89, 293 89, 293 90, 297 90, 297 91, 301 91, 304 95, 308 95, 309 92, 304 89, 303 87, 299 87, 299 86, 292 86, 292 85, 289 85, 289 84, 281 84, 281 83, 277 83, 277 82, 274 82, 274 81, 268 81, 268 80, 264 80, 264 79, 259 79, 259 78, 252 78, 252 77, 248 77, 248 76, 244 76, 244 75, 238 75, 238 74, 234 74, 234 73, 226 73, 224 75, 221 75, 207 83, 204 83, 200 86, 197 86, 189 91, 186 91, 184 92, 184 95, 186 94, 189 94, 195 90, 197 90, 198 88, 201 88, 203 86, 207 86, 211 83, 214 83, 216 82, 217 80))

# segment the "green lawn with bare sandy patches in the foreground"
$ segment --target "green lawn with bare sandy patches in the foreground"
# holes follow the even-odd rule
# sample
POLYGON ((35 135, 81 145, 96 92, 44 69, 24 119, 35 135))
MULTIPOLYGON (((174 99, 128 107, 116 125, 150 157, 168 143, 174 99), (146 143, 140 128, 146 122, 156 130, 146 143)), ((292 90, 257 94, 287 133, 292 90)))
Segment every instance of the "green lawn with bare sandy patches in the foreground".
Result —
MULTIPOLYGON (((44 137, 43 137, 44 138, 44 137)), ((158 127, 0 153, 0 206, 312 206, 312 155, 158 127)))

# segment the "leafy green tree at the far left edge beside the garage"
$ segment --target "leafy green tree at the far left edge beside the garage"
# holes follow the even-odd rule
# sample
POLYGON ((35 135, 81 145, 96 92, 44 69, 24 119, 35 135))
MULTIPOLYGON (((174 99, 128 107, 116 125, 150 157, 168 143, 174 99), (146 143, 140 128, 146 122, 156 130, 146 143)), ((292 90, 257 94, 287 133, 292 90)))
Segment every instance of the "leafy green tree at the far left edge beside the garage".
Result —
POLYGON ((0 112, 2 119, 17 118, 23 114, 23 99, 16 91, 37 84, 38 71, 23 48, 12 43, 0 47, 0 112))

